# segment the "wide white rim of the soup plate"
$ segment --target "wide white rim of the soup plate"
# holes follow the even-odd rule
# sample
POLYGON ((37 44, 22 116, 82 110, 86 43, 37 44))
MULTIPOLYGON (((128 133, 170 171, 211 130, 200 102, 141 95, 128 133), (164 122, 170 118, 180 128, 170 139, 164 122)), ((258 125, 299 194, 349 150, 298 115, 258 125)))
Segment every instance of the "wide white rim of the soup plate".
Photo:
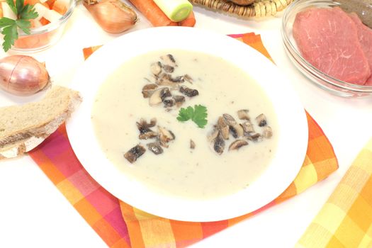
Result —
MULTIPOLYGON (((261 55, 261 53, 258 52, 257 50, 254 50, 252 47, 249 47, 249 45, 241 43, 240 41, 235 40, 235 38, 230 38, 227 35, 221 35, 219 33, 213 33, 211 31, 201 30, 201 29, 198 29, 198 28, 159 27, 159 28, 146 28, 146 29, 142 29, 142 30, 136 30, 136 31, 133 31, 131 33, 127 33, 125 35, 122 35, 118 38, 115 38, 115 39, 111 40, 111 42, 107 43, 106 45, 103 45, 98 50, 96 50, 96 52, 94 52, 84 62, 84 64, 81 67, 79 67, 79 69, 77 70, 77 73, 75 74, 74 78, 72 79, 72 84, 71 84, 72 89, 76 89, 76 90, 81 92, 81 87, 83 87, 81 85, 81 84, 83 84, 81 82, 81 79, 84 78, 84 73, 86 73, 86 71, 89 70, 89 68, 97 66, 97 64, 99 64, 99 62, 102 61, 103 59, 109 59, 111 57, 113 51, 115 50, 115 48, 118 48, 118 46, 123 45, 123 43, 124 44, 126 43, 128 45, 128 43, 129 44, 133 43, 133 40, 137 40, 137 39, 140 39, 140 38, 146 38, 146 37, 148 37, 148 35, 159 35, 159 34, 166 35, 166 36, 170 35, 170 34, 172 34, 172 35, 176 34, 176 35, 181 35, 181 36, 182 35, 184 35, 184 36, 185 35, 190 35, 191 38, 199 38, 202 35, 203 38, 205 38, 204 40, 202 40, 203 44, 211 42, 211 41, 216 41, 216 39, 217 39, 217 43, 220 42, 222 44, 226 43, 227 45, 232 45, 234 48, 232 49, 231 47, 229 47, 229 49, 230 50, 232 49, 235 52, 236 52, 237 48, 242 48, 243 49, 243 47, 244 47, 244 50, 242 50, 243 55, 253 55, 254 59, 257 59, 259 61, 259 63, 264 63, 265 67, 269 67, 270 70, 274 70, 274 74, 277 74, 278 79, 280 79, 279 81, 281 81, 284 84, 283 89, 285 91, 283 91, 283 89, 281 89, 281 91, 283 92, 283 94, 287 94, 287 96, 290 96, 290 98, 291 98, 290 100, 293 103, 297 103, 295 108, 296 108, 297 113, 301 115, 301 116, 298 117, 298 123, 300 123, 300 127, 299 127, 300 130, 298 132, 300 132, 299 135, 302 136, 302 138, 304 140, 302 141, 302 144, 298 144, 296 146, 297 154, 295 154, 295 156, 296 156, 297 160, 299 160, 298 157, 302 157, 302 162, 300 164, 297 164, 296 166, 294 166, 292 168, 292 171, 288 172, 288 175, 286 177, 286 181, 283 184, 274 188, 273 193, 271 193, 270 197, 266 197, 265 201, 261 201, 259 204, 251 203, 251 207, 246 208, 247 211, 242 210, 242 208, 239 208, 239 210, 237 210, 234 207, 232 207, 231 208, 231 213, 220 213, 220 214, 213 214, 212 213, 211 214, 210 210, 208 210, 208 208, 204 207, 204 204, 205 204, 205 206, 209 206, 209 207, 213 206, 214 204, 219 204, 219 203, 221 203, 220 199, 215 199, 215 200, 210 200, 210 201, 189 201, 191 204, 188 205, 188 209, 190 210, 189 212, 191 212, 191 213, 184 213, 184 214, 181 214, 181 215, 179 213, 180 211, 171 211, 171 210, 169 210, 169 208, 167 208, 167 210, 157 210, 157 209, 154 209, 155 206, 159 207, 159 205, 162 205, 162 203, 159 204, 159 202, 158 202, 156 204, 154 204, 154 203, 149 204, 148 201, 147 201, 147 204, 146 204, 146 202, 144 203, 142 201, 139 203, 135 199, 133 199, 133 196, 131 198, 128 198, 128 196, 123 196, 123 193, 121 193, 120 191, 118 191, 117 188, 115 188, 115 187, 119 186, 118 184, 108 183, 107 179, 104 179, 104 177, 102 176, 102 173, 105 173, 104 171, 101 171, 101 169, 94 169, 94 168, 92 168, 92 166, 90 164, 87 164, 87 161, 89 161, 89 159, 86 158, 86 154, 83 154, 81 152, 81 146, 78 144, 79 139, 77 139, 77 129, 76 129, 76 126, 78 125, 77 120, 79 120, 79 118, 82 118, 82 117, 78 116, 79 113, 81 113, 81 109, 82 109, 81 106, 80 106, 77 109, 77 111, 72 113, 72 117, 70 118, 69 121, 67 121, 66 128, 67 128, 67 135, 68 135, 70 143, 72 145, 72 149, 74 150, 75 154, 77 155, 77 158, 81 162, 84 169, 86 169, 86 171, 93 177, 93 179, 95 179, 98 182, 98 184, 103 186, 103 188, 106 188, 106 190, 108 192, 112 193, 113 196, 117 197, 118 199, 121 199, 122 201, 124 201, 125 203, 128 203, 130 205, 133 205, 133 207, 135 207, 135 208, 139 208, 141 210, 144 210, 147 213, 152 213, 153 215, 158 215, 160 217, 169 218, 169 219, 172 219, 172 220, 193 221, 193 222, 208 222, 208 221, 226 220, 226 219, 235 218, 235 217, 238 217, 240 215, 247 214, 249 212, 252 212, 253 210, 257 210, 257 209, 263 207, 264 205, 266 205, 267 203, 270 203, 271 201, 274 201, 274 199, 277 196, 279 196, 281 193, 283 193, 283 191, 285 191, 286 188, 292 183, 292 181, 295 179, 295 176, 298 174, 298 171, 300 171, 300 168, 302 167, 303 160, 305 159, 305 154, 306 154, 307 147, 308 147, 308 121, 307 121, 307 118, 306 118, 306 115, 305 115, 305 109, 303 108, 302 103, 300 103, 300 100, 299 100, 298 96, 295 94, 295 91, 290 86, 288 77, 286 77, 282 72, 280 72, 279 69, 269 59, 264 57, 264 55, 261 55), (298 108, 299 108, 298 106, 300 106, 301 111, 298 110, 298 108), (289 178, 291 178, 291 180, 288 180, 289 178), (203 204, 203 208, 197 208, 197 207, 193 208, 193 205, 195 205, 195 204, 199 205, 199 206, 200 206, 200 204, 203 204), (151 205, 151 206, 149 206, 149 205, 151 205), (196 210, 197 210, 196 213, 192 213, 192 212, 195 212, 196 210), (232 211, 232 210, 234 210, 234 211, 232 211)), ((128 50, 128 48, 126 48, 126 49, 128 50)), ((152 49, 152 50, 159 50, 159 48, 155 48, 155 49, 152 49)), ((130 57, 128 59, 126 59, 125 61, 127 61, 129 59, 130 59, 130 57)), ((104 61, 106 61, 106 60, 104 60, 104 61)), ((113 69, 113 70, 115 70, 115 69, 113 69)), ((83 95, 83 98, 84 98, 84 92, 82 92, 81 94, 83 95)), ((287 101, 288 101, 288 99, 287 99, 287 101)), ((81 103, 81 105, 84 105, 84 104, 87 104, 87 103, 84 102, 84 100, 83 100, 83 103, 81 103)), ((115 178, 115 176, 113 176, 113 177, 115 178)), ((159 199, 156 199, 156 198, 150 198, 150 199, 155 200, 155 201, 159 200, 159 199)), ((164 200, 164 198, 162 198, 162 197, 160 197, 160 199, 164 200)), ((236 199, 235 198, 230 198, 230 196, 226 196, 226 197, 224 197, 224 199, 225 199, 224 201, 229 201, 229 199, 230 199, 230 201, 233 200, 234 203, 237 203, 236 199)), ((166 201, 167 201, 167 199, 166 199, 166 201)), ((176 203, 179 203, 178 200, 174 200, 174 201, 176 201, 176 203)), ((245 202, 242 201, 242 202, 239 202, 239 203, 244 204, 245 202)))

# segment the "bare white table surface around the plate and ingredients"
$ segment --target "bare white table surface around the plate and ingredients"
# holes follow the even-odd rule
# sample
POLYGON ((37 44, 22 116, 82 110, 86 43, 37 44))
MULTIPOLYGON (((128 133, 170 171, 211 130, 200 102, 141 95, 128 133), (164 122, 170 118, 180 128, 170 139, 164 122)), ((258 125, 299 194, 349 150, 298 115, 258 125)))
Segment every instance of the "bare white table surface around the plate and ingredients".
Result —
MULTIPOLYGON (((293 247, 363 145, 372 137, 372 98, 339 98, 317 88, 295 69, 281 42, 281 17, 244 21, 199 7, 196 28, 221 34, 256 32, 278 67, 288 76, 303 106, 332 142, 339 169, 299 196, 239 222, 193 247, 293 247)), ((128 32, 150 27, 140 21, 128 32)), ((120 35, 125 35, 120 34, 120 35)), ((31 54, 45 61, 55 84, 68 86, 84 62, 81 49, 118 35, 105 33, 79 4, 55 46, 31 54)), ((10 54, 0 52, 0 57, 10 54)), ((0 106, 32 98, 0 93, 0 106)), ((107 247, 29 157, 0 162, 0 247, 107 247)))

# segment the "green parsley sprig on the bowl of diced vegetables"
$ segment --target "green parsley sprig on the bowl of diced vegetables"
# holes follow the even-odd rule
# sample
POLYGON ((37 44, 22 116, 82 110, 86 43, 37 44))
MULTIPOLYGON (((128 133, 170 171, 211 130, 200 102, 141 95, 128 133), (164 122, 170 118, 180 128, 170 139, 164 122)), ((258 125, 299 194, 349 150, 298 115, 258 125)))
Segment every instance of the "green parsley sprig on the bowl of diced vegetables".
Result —
POLYGON ((13 20, 7 17, 0 18, 1 33, 4 35, 3 49, 5 52, 14 45, 14 40, 18 39, 17 28, 20 28, 29 35, 31 27, 29 20, 39 16, 33 5, 24 5, 24 3, 24 0, 16 0, 16 4, 14 4, 13 0, 6 0, 6 4, 8 4, 13 13, 16 14, 17 19, 13 20))

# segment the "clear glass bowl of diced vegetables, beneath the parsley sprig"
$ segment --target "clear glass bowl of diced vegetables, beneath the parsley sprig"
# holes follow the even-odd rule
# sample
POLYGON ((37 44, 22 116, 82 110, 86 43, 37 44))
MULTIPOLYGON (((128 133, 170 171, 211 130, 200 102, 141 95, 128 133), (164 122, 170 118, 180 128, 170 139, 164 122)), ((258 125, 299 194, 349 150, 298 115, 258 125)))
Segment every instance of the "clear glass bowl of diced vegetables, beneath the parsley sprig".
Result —
POLYGON ((67 6, 67 11, 63 16, 45 26, 31 28, 29 35, 18 28, 18 39, 15 40, 11 50, 16 52, 39 52, 57 43, 75 6, 75 0, 69 0, 69 6, 67 6))

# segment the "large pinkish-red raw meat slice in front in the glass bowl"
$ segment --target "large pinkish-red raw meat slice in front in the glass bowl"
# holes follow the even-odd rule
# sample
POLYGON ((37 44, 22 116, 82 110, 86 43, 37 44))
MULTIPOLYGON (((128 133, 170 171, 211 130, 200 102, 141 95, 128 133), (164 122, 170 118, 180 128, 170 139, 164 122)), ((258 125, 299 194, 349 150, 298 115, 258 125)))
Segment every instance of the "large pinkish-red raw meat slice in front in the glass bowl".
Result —
POLYGON ((298 13, 293 37, 305 60, 325 74, 360 85, 371 76, 356 24, 342 9, 311 8, 298 13))

